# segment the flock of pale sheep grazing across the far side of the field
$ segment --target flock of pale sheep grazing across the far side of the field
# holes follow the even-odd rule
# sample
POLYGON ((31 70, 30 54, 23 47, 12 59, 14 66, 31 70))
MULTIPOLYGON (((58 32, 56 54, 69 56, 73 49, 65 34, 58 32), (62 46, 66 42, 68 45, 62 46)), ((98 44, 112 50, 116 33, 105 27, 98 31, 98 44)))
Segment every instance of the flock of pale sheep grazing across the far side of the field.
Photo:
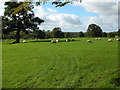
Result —
MULTIPOLYGON (((104 38, 103 38, 103 39, 104 39, 104 38)), ((102 40, 102 38, 95 38, 95 40, 102 40)), ((119 38, 114 39, 114 40, 120 41, 119 38)), ((72 38, 72 39, 66 39, 65 41, 66 41, 66 42, 69 42, 69 41, 75 41, 75 40, 72 38)), ((113 42, 112 39, 108 39, 107 41, 108 41, 108 42, 113 42)), ((59 38, 57 38, 57 39, 53 38, 53 40, 51 40, 51 43, 57 43, 57 42, 59 42, 59 38)), ((23 40, 23 43, 26 43, 26 40, 23 40)), ((92 41, 91 41, 91 40, 87 40, 87 43, 92 43, 92 41)))

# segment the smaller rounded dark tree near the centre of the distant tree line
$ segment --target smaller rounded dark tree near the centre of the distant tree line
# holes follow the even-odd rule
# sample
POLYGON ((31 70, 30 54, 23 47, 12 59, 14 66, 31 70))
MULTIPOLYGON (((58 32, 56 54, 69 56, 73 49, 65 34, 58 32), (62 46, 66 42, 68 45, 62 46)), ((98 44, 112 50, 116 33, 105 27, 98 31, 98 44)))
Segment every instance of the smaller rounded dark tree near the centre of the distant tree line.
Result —
POLYGON ((63 38, 64 33, 61 31, 61 28, 57 27, 52 30, 52 37, 53 38, 63 38))

